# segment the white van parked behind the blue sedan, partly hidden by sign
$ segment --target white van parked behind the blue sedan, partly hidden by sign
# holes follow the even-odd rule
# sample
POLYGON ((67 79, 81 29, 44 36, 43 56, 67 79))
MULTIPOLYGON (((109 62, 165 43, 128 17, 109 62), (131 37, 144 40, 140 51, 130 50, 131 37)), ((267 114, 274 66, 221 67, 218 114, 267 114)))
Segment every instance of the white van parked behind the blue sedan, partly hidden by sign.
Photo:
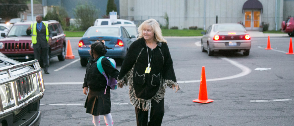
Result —
POLYGON ((116 23, 112 23, 111 24, 109 18, 96 19, 96 21, 94 22, 94 26, 99 26, 99 25, 114 25, 114 24, 134 24, 134 22, 129 21, 129 20, 124 20, 124 19, 117 19, 117 22, 116 23))

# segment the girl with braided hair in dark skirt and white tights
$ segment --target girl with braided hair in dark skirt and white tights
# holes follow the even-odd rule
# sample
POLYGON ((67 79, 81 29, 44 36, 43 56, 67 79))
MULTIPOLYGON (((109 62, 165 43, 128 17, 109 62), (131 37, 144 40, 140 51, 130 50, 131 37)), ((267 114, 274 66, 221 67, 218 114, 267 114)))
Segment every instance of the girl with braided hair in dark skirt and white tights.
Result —
MULTIPOLYGON (((107 50, 111 49, 104 45, 103 42, 95 42, 91 44, 90 55, 88 57, 88 64, 86 69, 86 75, 83 83, 83 93, 87 95, 88 87, 89 93, 86 99, 85 108, 86 113, 93 115, 93 123, 95 126, 100 126, 100 115, 104 116, 104 120, 107 126, 113 125, 112 116, 110 114, 111 102, 110 102, 110 87, 107 86, 107 80, 101 74, 97 68, 97 60, 101 56, 105 56, 107 50), (104 90, 106 87, 106 94, 104 90)), ((104 69, 107 77, 118 77, 118 70, 111 66, 110 61, 107 58, 101 60, 102 68, 104 69)))

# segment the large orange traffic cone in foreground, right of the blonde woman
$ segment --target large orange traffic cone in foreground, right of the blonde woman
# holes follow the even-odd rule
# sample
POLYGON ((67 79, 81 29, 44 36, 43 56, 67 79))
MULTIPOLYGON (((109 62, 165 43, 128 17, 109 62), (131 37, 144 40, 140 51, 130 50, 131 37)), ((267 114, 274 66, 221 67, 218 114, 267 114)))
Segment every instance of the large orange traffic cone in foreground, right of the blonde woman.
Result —
POLYGON ((206 77, 205 77, 205 67, 204 66, 202 67, 202 72, 201 72, 201 82, 200 82, 198 99, 193 100, 193 102, 199 102, 199 103, 213 102, 213 100, 208 99, 208 97, 207 97, 206 77))

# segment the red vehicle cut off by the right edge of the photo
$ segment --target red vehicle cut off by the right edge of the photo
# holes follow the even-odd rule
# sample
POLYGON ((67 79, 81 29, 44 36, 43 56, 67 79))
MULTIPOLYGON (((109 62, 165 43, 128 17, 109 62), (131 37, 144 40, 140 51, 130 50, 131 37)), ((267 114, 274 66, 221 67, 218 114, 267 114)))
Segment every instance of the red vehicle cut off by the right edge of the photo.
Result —
POLYGON ((282 32, 288 33, 290 37, 294 37, 294 17, 287 18, 282 22, 282 32))

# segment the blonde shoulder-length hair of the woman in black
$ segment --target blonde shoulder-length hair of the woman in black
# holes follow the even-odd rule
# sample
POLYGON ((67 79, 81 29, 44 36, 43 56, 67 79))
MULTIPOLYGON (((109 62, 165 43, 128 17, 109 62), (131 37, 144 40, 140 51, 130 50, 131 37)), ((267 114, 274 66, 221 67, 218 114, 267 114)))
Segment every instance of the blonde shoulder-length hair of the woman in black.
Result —
POLYGON ((146 28, 147 26, 150 26, 151 29, 154 32, 154 41, 157 42, 166 42, 166 39, 162 37, 161 29, 159 26, 159 23, 155 19, 148 19, 144 21, 139 27, 138 27, 138 38, 140 39, 143 37, 143 29, 146 28))

